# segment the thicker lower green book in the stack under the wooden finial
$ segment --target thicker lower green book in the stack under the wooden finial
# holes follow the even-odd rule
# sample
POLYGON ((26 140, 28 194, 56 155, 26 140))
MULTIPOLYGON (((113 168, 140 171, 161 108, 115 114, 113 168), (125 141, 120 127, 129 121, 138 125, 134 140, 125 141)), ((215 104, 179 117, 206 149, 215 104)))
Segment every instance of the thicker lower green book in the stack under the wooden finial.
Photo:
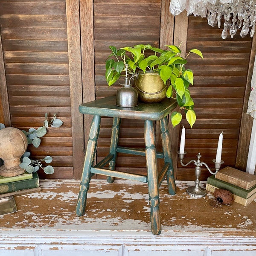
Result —
POLYGON ((27 180, 18 180, 0 184, 0 195, 23 189, 32 189, 39 187, 39 178, 37 172, 31 174, 32 178, 27 180))

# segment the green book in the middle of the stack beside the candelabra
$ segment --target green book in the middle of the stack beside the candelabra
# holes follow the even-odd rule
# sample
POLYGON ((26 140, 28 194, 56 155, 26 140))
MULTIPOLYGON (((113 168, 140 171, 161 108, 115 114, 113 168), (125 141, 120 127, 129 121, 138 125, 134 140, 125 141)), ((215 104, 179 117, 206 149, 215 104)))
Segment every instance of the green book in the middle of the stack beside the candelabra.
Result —
POLYGON ((230 191, 232 194, 234 195, 238 195, 242 198, 249 198, 251 195, 253 195, 254 193, 256 193, 256 186, 253 186, 250 189, 243 189, 239 186, 235 186, 231 183, 228 183, 226 181, 223 180, 219 180, 215 178, 215 175, 212 175, 210 177, 207 178, 207 183, 215 186, 219 189, 226 189, 228 191, 230 191))

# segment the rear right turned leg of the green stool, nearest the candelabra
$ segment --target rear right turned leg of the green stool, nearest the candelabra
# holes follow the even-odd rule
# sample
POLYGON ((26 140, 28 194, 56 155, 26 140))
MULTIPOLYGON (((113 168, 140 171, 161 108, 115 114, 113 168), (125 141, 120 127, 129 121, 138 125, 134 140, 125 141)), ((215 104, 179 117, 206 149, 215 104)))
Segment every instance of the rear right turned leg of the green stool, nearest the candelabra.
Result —
POLYGON ((174 170, 172 165, 172 149, 170 147, 170 136, 168 130, 168 120, 167 117, 164 117, 160 120, 160 130, 161 130, 161 139, 163 145, 163 155, 165 163, 169 164, 169 169, 167 170, 167 183, 170 195, 176 194, 176 184, 174 178, 174 170))

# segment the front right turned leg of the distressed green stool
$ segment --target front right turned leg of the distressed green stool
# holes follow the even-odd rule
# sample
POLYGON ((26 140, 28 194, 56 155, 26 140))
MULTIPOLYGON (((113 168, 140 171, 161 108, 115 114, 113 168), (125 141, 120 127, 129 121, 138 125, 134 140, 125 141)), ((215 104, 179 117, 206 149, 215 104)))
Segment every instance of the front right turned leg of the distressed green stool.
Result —
POLYGON ((157 157, 154 141, 153 122, 145 120, 145 154, 148 174, 148 195, 151 216, 151 231, 154 235, 161 233, 161 221, 159 212, 159 188, 157 173, 157 157))

